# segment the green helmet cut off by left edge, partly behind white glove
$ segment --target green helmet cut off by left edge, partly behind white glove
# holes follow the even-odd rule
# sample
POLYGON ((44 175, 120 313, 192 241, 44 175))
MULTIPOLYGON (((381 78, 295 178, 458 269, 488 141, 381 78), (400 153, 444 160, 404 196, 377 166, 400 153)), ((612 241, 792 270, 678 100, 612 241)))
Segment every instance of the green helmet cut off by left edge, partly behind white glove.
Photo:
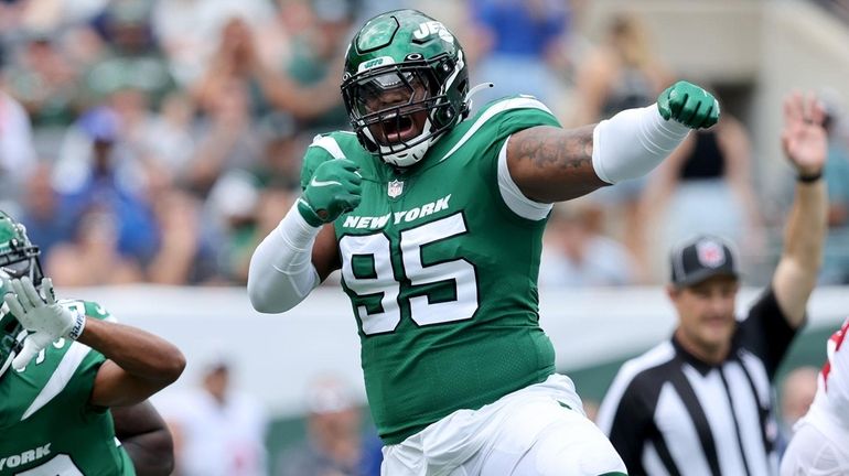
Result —
MULTIPOLYGON (((14 278, 29 277, 39 286, 44 277, 39 261, 39 247, 26 237, 23 225, 0 212, 0 298, 6 295, 7 283, 14 278)), ((6 304, 0 307, 0 376, 21 350, 26 332, 6 304)))

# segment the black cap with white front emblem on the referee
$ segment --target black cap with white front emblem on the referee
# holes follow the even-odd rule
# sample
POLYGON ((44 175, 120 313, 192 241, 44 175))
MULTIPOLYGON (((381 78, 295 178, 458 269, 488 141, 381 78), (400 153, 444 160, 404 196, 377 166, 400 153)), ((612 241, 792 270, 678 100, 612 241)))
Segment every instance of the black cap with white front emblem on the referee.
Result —
POLYGON ((671 283, 677 288, 698 284, 716 275, 740 278, 738 260, 723 239, 701 235, 683 242, 670 255, 671 283))

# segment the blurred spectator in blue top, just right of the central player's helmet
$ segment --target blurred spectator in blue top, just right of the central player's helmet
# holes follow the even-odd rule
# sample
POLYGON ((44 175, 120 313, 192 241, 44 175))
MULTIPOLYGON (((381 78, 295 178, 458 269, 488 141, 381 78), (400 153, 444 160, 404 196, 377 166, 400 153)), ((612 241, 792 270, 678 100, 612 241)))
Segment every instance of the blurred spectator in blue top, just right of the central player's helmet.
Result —
POLYGON ((562 0, 472 0, 471 21, 482 51, 472 85, 492 82, 480 93, 480 106, 502 96, 527 94, 556 104, 560 46, 569 34, 569 2, 562 0), (522 74, 516 74, 522 72, 522 74))

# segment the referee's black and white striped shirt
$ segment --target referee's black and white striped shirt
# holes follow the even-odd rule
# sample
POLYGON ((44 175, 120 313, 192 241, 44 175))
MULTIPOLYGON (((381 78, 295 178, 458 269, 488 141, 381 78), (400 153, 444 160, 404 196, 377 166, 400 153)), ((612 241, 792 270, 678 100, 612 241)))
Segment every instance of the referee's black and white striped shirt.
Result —
POLYGON ((796 331, 772 289, 738 323, 721 365, 675 338, 625 363, 599 410, 631 476, 775 475, 772 380, 796 331))

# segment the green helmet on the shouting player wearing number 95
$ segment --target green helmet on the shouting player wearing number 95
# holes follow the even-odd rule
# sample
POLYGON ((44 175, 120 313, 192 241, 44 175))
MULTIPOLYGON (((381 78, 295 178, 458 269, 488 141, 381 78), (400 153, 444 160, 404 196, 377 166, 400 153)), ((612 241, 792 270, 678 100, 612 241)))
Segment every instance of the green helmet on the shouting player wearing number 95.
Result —
POLYGON ((363 147, 405 167, 469 115, 463 48, 440 22, 416 10, 367 21, 345 55, 342 96, 363 147))

